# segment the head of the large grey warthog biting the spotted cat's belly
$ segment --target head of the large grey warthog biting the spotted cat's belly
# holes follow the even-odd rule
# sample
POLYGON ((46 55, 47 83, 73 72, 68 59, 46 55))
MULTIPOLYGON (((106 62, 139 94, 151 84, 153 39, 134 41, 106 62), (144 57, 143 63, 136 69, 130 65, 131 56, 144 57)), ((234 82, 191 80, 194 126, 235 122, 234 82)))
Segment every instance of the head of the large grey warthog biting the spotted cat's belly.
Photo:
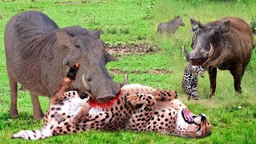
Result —
POLYGON ((118 61, 108 54, 100 40, 101 31, 85 30, 80 26, 70 26, 56 30, 58 45, 63 46, 67 54, 62 59, 62 65, 69 67, 80 63, 74 89, 78 94, 89 94, 98 102, 107 102, 115 98, 127 77, 122 83, 114 82, 113 76, 106 70, 106 63, 118 61))

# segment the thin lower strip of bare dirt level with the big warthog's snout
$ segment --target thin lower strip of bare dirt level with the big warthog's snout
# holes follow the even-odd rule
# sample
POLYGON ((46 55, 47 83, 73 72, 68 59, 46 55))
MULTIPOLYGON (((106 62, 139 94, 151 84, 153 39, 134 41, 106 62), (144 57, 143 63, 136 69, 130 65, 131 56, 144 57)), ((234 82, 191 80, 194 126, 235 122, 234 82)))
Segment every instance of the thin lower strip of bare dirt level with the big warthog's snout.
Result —
POLYGON ((127 73, 131 73, 131 74, 172 74, 172 70, 166 70, 164 68, 157 68, 154 70, 131 70, 131 71, 127 71, 127 70, 120 70, 118 68, 112 68, 110 69, 110 71, 113 74, 127 74, 127 73))

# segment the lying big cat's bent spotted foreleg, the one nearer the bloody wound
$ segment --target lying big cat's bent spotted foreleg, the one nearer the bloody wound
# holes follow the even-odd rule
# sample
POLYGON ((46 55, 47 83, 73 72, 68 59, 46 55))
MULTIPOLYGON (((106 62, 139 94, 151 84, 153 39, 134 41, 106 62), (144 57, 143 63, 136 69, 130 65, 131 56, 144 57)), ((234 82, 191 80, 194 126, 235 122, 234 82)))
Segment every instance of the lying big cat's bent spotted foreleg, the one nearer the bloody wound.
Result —
POLYGON ((130 117, 126 129, 139 131, 146 130, 146 126, 150 121, 156 102, 154 96, 151 94, 131 94, 126 96, 126 102, 131 106, 142 105, 142 107, 130 117))

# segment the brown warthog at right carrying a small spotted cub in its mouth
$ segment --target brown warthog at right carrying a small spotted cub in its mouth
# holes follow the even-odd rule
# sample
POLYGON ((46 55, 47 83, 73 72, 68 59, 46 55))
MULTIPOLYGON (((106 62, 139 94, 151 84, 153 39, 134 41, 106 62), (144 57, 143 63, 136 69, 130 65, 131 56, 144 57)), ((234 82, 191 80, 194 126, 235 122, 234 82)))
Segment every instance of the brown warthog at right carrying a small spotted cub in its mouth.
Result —
POLYGON ((234 77, 234 89, 241 90, 242 76, 250 62, 254 47, 251 27, 241 18, 224 18, 220 21, 202 25, 190 19, 192 30, 192 51, 182 50, 191 65, 209 66, 210 96, 216 89, 217 67, 219 70, 230 70, 234 77))

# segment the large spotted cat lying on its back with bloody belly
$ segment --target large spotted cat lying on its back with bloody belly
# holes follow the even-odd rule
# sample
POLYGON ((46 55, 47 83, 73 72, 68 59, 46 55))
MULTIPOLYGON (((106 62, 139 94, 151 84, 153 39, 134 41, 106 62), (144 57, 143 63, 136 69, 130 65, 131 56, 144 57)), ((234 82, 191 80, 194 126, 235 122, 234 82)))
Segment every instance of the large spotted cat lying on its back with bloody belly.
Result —
POLYGON ((98 103, 90 96, 82 99, 76 90, 69 90, 78 68, 70 68, 59 90, 50 97, 42 129, 21 130, 12 138, 38 140, 86 130, 155 131, 182 138, 205 138, 210 134, 206 114, 192 114, 178 100, 175 90, 126 84, 108 103, 98 103))

